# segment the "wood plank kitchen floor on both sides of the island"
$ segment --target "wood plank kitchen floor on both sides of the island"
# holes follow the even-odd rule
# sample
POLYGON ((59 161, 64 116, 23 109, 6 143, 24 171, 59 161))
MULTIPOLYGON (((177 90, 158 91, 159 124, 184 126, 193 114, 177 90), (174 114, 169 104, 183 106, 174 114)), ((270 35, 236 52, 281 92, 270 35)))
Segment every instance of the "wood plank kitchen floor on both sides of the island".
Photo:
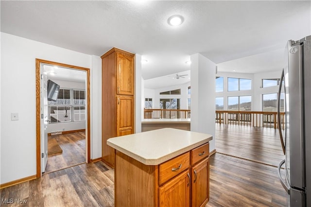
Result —
MULTIPOLYGON (((114 206, 114 171, 103 162, 84 163, 1 189, 1 206, 114 206), (26 200, 19 205, 16 199, 26 200)), ((210 157, 210 200, 207 207, 285 207, 288 195, 276 168, 216 153, 210 157)))

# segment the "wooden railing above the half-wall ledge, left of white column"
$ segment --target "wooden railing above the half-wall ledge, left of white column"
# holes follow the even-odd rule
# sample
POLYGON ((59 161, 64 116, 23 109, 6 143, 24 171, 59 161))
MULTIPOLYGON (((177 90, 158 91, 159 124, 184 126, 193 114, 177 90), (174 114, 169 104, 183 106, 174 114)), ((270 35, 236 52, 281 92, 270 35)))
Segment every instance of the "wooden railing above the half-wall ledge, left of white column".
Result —
POLYGON ((145 119, 190 119, 186 109, 144 109, 145 119))

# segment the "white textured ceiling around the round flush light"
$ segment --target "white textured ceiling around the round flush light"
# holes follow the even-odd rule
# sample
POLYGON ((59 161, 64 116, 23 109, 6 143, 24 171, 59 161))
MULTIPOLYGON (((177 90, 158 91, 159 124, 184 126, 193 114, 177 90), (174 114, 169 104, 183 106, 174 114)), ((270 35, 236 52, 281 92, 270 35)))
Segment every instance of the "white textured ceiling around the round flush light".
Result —
POLYGON ((311 35, 311 1, 1 0, 0 7, 1 32, 98 56, 112 47, 138 53, 148 60, 145 80, 186 74, 198 52, 218 71, 281 69, 287 40, 311 35), (170 26, 172 15, 183 24, 170 26))

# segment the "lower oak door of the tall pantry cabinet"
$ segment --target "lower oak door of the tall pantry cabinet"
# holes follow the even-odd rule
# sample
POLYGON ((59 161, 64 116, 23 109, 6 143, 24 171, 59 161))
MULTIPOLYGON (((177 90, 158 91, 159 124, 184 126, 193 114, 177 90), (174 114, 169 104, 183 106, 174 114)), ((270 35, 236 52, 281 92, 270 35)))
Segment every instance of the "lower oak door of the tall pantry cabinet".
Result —
POLYGON ((117 96, 117 137, 134 133, 134 97, 117 96))

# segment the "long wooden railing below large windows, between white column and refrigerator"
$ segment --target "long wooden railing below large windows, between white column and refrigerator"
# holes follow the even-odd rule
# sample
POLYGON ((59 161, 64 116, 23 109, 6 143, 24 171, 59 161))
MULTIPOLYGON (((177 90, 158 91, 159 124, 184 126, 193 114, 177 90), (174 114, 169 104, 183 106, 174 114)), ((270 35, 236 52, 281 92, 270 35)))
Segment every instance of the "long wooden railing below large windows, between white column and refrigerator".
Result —
MULTIPOLYGON (((285 127, 284 112, 280 113, 281 128, 285 127)), ((216 123, 277 128, 277 113, 268 111, 222 111, 216 110, 216 123)))

